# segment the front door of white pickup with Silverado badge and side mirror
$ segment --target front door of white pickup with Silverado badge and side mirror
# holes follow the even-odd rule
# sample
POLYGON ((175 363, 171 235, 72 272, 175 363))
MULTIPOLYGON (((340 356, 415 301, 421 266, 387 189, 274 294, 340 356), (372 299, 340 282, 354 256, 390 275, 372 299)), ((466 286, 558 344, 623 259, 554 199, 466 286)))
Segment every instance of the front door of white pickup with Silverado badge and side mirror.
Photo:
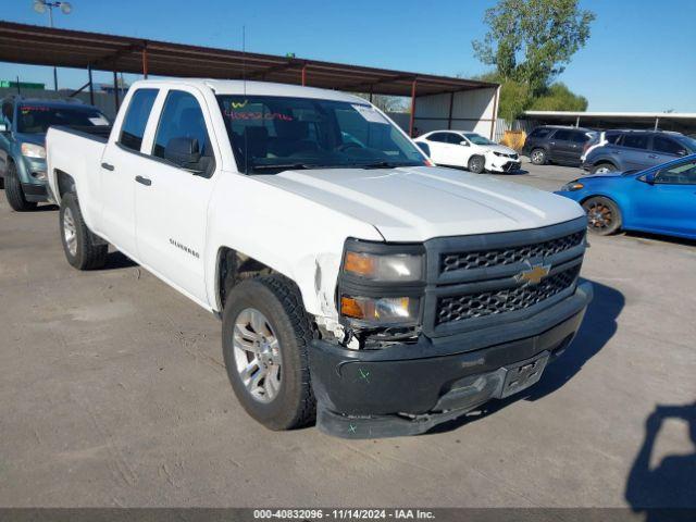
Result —
POLYGON ((147 170, 135 177, 140 260, 202 302, 208 302, 203 263, 208 202, 220 164, 206 107, 196 89, 169 90, 148 147, 147 170))

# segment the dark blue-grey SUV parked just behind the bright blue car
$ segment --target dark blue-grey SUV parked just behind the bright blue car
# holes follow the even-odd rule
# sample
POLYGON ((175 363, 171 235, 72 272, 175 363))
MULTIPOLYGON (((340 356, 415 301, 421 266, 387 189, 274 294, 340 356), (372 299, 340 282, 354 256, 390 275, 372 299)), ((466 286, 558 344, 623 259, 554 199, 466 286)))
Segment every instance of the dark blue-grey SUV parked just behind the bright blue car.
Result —
POLYGON ((607 130, 611 139, 592 147, 582 167, 592 174, 642 170, 696 152, 696 140, 664 130, 607 130))

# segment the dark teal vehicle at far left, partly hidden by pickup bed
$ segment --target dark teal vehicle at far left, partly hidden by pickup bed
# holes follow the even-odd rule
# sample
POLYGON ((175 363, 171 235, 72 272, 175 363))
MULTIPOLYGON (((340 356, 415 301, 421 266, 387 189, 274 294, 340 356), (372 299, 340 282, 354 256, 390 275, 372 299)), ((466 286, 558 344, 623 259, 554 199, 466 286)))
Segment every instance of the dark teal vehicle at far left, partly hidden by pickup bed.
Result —
POLYGON ((0 178, 3 178, 8 202, 16 211, 33 210, 37 202, 50 199, 44 146, 51 125, 109 129, 109 120, 97 108, 77 100, 12 96, 0 103, 0 178))

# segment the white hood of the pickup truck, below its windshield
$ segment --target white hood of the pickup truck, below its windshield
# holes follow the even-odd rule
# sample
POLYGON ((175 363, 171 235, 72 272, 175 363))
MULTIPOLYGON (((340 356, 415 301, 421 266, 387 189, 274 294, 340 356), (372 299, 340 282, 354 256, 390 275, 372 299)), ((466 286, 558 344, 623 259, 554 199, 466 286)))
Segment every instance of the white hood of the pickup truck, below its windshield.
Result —
POLYGON ((567 198, 451 169, 325 169, 254 177, 370 223, 387 241, 537 228, 584 215, 567 198))

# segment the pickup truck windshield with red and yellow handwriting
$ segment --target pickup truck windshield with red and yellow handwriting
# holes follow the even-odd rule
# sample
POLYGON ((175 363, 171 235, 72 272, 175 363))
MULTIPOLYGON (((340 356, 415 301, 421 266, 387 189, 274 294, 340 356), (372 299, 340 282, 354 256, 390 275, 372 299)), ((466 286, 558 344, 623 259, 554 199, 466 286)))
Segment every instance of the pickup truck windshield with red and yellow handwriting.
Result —
POLYGON ((243 172, 424 165, 425 157, 371 105, 274 96, 219 96, 243 172))

